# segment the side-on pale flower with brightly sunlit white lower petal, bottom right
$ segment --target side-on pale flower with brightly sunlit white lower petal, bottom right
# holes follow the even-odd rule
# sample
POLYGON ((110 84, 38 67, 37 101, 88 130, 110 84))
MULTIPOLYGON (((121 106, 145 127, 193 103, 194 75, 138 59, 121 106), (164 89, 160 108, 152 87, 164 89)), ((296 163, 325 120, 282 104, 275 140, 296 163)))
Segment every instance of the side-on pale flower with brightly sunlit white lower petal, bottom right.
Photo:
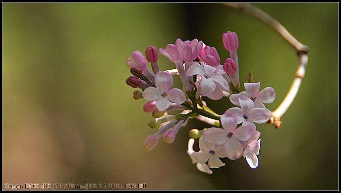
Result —
POLYGON ((247 163, 253 169, 258 166, 257 155, 259 154, 259 149, 261 147, 260 135, 261 133, 256 131, 248 142, 244 143, 243 157, 246 158, 247 163))

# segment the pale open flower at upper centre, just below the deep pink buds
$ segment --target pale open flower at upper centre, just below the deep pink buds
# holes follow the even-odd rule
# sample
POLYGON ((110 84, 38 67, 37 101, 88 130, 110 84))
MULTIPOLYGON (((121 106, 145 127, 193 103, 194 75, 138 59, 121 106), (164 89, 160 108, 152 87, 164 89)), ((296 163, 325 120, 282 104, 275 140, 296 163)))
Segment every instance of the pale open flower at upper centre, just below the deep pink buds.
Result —
POLYGON ((213 100, 221 99, 224 96, 223 90, 229 89, 228 83, 222 74, 225 74, 223 69, 219 69, 205 63, 202 63, 201 65, 194 63, 186 72, 187 76, 201 76, 200 81, 197 83, 198 91, 196 98, 199 98, 199 96, 202 95, 213 100))

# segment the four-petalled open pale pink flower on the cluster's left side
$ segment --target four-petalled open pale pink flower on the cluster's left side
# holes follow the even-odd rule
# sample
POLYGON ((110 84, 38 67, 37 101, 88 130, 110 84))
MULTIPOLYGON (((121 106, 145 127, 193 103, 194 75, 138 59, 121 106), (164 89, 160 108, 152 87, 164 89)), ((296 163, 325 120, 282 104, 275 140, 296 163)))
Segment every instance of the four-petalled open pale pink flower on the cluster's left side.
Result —
POLYGON ((160 71, 155 77, 155 87, 149 87, 144 90, 142 96, 147 100, 156 100, 156 107, 160 111, 164 111, 170 106, 170 101, 182 104, 186 100, 186 96, 180 89, 171 88, 173 78, 170 73, 160 71))

